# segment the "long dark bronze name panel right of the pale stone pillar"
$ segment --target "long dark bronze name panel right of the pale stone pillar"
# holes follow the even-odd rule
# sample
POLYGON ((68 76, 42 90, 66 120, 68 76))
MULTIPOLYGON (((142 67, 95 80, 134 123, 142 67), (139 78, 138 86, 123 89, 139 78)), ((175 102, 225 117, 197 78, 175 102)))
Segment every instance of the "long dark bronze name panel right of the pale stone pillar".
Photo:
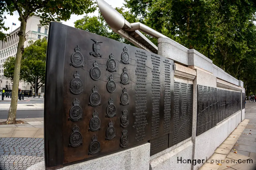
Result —
POLYGON ((197 135, 241 110, 241 92, 198 85, 197 135))

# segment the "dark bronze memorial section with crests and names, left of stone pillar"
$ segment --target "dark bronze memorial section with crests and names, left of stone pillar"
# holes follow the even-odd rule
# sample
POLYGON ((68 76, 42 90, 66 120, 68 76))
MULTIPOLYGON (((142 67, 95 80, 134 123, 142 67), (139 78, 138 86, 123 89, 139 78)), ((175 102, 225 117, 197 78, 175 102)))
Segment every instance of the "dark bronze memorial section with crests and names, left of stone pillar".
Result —
POLYGON ((192 135, 193 85, 173 60, 51 23, 45 82, 45 167, 146 142, 150 155, 192 135))

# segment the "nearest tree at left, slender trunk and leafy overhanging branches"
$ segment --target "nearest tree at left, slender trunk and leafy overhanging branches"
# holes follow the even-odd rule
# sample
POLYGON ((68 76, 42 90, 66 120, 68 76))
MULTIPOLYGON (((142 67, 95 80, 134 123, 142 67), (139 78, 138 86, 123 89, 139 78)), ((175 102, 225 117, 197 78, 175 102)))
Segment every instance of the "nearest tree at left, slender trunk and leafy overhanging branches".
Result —
MULTIPOLYGON (((37 14, 41 17, 40 23, 42 26, 47 25, 51 21, 68 20, 71 14, 81 15, 84 12, 89 13, 95 11, 95 2, 92 0, 8 0, 0 2, 0 28, 8 29, 4 26, 3 19, 4 12, 13 15, 14 11, 19 14, 20 30, 18 32, 19 42, 17 47, 17 54, 14 65, 14 77, 13 77, 13 92, 11 98, 11 105, 8 113, 7 124, 16 123, 16 111, 18 100, 18 87, 20 81, 20 65, 21 57, 24 52, 24 42, 26 41, 26 24, 28 17, 37 14)), ((2 31, 0 33, 1 40, 6 38, 6 34, 2 31)))

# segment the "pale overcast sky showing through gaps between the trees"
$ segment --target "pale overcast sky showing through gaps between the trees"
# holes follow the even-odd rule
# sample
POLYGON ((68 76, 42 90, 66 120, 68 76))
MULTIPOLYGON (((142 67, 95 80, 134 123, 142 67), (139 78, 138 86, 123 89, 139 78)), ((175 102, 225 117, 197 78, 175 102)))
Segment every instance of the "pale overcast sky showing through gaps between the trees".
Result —
MULTIPOLYGON (((120 8, 123 6, 123 3, 124 3, 124 0, 105 0, 109 5, 111 5, 112 7, 116 8, 120 8)), ((98 16, 98 11, 95 11, 94 13, 92 14, 88 14, 89 16, 98 16)), ((14 14, 11 16, 11 15, 8 15, 7 13, 5 13, 5 16, 7 19, 4 20, 5 22, 5 26, 6 27, 10 27, 10 29, 7 31, 7 33, 10 33, 11 32, 11 26, 12 26, 12 23, 15 23, 16 26, 12 26, 12 31, 17 29, 19 26, 20 26, 20 21, 18 20, 19 18, 19 14, 17 11, 14 12, 14 14)), ((65 25, 68 25, 68 26, 74 26, 74 22, 76 20, 79 20, 81 18, 83 18, 84 15, 71 15, 70 17, 70 20, 67 20, 66 22, 65 21, 62 21, 63 24, 65 25)), ((6 31, 4 31, 6 33, 6 31)))

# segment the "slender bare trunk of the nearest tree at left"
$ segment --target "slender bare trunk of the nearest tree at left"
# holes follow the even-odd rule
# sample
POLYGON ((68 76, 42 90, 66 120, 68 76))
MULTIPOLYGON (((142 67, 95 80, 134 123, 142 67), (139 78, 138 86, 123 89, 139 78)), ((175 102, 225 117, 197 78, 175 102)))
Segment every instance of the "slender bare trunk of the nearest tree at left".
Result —
POLYGON ((20 62, 21 62, 22 54, 24 52, 24 42, 26 41, 26 38, 25 38, 26 24, 27 22, 25 21, 25 19, 23 17, 20 17, 20 31, 18 32, 18 36, 20 40, 17 47, 16 59, 15 59, 15 65, 14 65, 12 98, 11 98, 11 105, 9 108, 8 118, 6 120, 7 124, 16 123, 18 88, 19 88, 19 82, 20 82, 20 62))

